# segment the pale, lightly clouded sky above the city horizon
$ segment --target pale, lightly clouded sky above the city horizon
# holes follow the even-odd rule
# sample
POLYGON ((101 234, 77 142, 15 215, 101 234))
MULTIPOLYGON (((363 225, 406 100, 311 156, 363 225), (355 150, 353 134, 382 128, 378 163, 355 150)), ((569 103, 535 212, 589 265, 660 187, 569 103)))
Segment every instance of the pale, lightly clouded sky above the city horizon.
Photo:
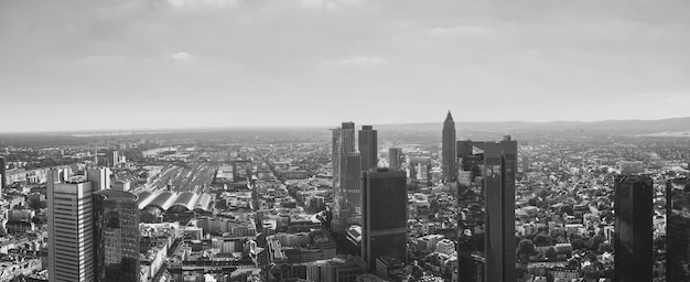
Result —
POLYGON ((0 132, 690 116, 687 0, 2 0, 0 132))

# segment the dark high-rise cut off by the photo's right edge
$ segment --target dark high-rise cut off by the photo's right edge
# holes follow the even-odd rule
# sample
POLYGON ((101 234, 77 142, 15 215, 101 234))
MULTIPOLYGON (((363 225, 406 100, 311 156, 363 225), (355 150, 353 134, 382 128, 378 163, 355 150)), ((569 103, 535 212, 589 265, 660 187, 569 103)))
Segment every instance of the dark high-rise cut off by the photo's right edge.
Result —
POLYGON ((666 279, 690 281, 690 189, 673 182, 666 186, 666 279))

